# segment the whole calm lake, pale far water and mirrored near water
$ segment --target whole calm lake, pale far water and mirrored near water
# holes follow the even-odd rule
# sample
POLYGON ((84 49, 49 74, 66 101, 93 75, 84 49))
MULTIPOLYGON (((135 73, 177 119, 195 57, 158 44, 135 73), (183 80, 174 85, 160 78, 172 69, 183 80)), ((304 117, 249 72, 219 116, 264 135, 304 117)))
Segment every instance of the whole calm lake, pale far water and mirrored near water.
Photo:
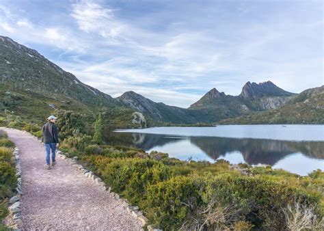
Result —
POLYGON ((324 125, 156 127, 118 130, 106 139, 181 160, 266 164, 300 175, 324 171, 324 125))

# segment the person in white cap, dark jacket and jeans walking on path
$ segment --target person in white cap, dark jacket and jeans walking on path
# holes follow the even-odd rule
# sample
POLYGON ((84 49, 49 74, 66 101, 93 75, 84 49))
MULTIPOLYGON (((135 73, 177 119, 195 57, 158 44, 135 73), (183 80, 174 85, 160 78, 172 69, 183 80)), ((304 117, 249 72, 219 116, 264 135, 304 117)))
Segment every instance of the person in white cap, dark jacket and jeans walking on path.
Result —
POLYGON ((55 152, 56 148, 59 146, 59 138, 57 126, 55 123, 57 122, 57 118, 55 116, 49 116, 47 118, 46 124, 42 126, 42 142, 44 143, 46 150, 46 165, 48 169, 51 169, 51 166, 56 165, 55 161, 55 152), (52 151, 52 164, 50 159, 50 154, 52 151))

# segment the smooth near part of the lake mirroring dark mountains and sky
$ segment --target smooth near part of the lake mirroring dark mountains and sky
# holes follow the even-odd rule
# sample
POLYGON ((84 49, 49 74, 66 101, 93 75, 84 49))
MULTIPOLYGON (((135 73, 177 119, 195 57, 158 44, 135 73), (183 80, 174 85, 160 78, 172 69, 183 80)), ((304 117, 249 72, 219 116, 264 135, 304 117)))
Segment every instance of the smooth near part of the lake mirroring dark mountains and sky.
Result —
POLYGON ((178 159, 189 157, 193 157, 193 160, 207 161, 228 159, 230 162, 245 162, 250 165, 266 164, 273 167, 278 165, 280 168, 302 175, 310 172, 310 169, 324 170, 323 141, 180 137, 147 133, 108 133, 105 139, 108 144, 131 146, 149 152, 158 150, 178 159), (289 163, 280 162, 284 159, 289 163), (294 165, 292 163, 294 159, 296 164, 304 163, 313 166, 294 165), (286 165, 292 166, 286 167, 286 165))

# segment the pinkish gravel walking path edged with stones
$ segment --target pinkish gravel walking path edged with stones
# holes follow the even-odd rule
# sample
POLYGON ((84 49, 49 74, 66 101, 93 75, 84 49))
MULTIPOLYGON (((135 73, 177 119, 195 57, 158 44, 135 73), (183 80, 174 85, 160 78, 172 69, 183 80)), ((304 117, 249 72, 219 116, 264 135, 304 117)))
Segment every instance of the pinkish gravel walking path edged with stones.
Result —
POLYGON ((141 230, 120 202, 67 161, 57 157, 57 165, 46 169, 44 147, 35 137, 3 130, 20 149, 23 230, 141 230))

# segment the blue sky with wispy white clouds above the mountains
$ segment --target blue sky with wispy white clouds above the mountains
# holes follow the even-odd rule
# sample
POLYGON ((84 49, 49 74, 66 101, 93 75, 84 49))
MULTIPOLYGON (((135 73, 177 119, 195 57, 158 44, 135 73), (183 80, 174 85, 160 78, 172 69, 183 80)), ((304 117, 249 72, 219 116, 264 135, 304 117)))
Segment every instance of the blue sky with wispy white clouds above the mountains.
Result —
POLYGON ((247 81, 324 84, 321 0, 0 0, 0 35, 113 97, 178 107, 247 81))

